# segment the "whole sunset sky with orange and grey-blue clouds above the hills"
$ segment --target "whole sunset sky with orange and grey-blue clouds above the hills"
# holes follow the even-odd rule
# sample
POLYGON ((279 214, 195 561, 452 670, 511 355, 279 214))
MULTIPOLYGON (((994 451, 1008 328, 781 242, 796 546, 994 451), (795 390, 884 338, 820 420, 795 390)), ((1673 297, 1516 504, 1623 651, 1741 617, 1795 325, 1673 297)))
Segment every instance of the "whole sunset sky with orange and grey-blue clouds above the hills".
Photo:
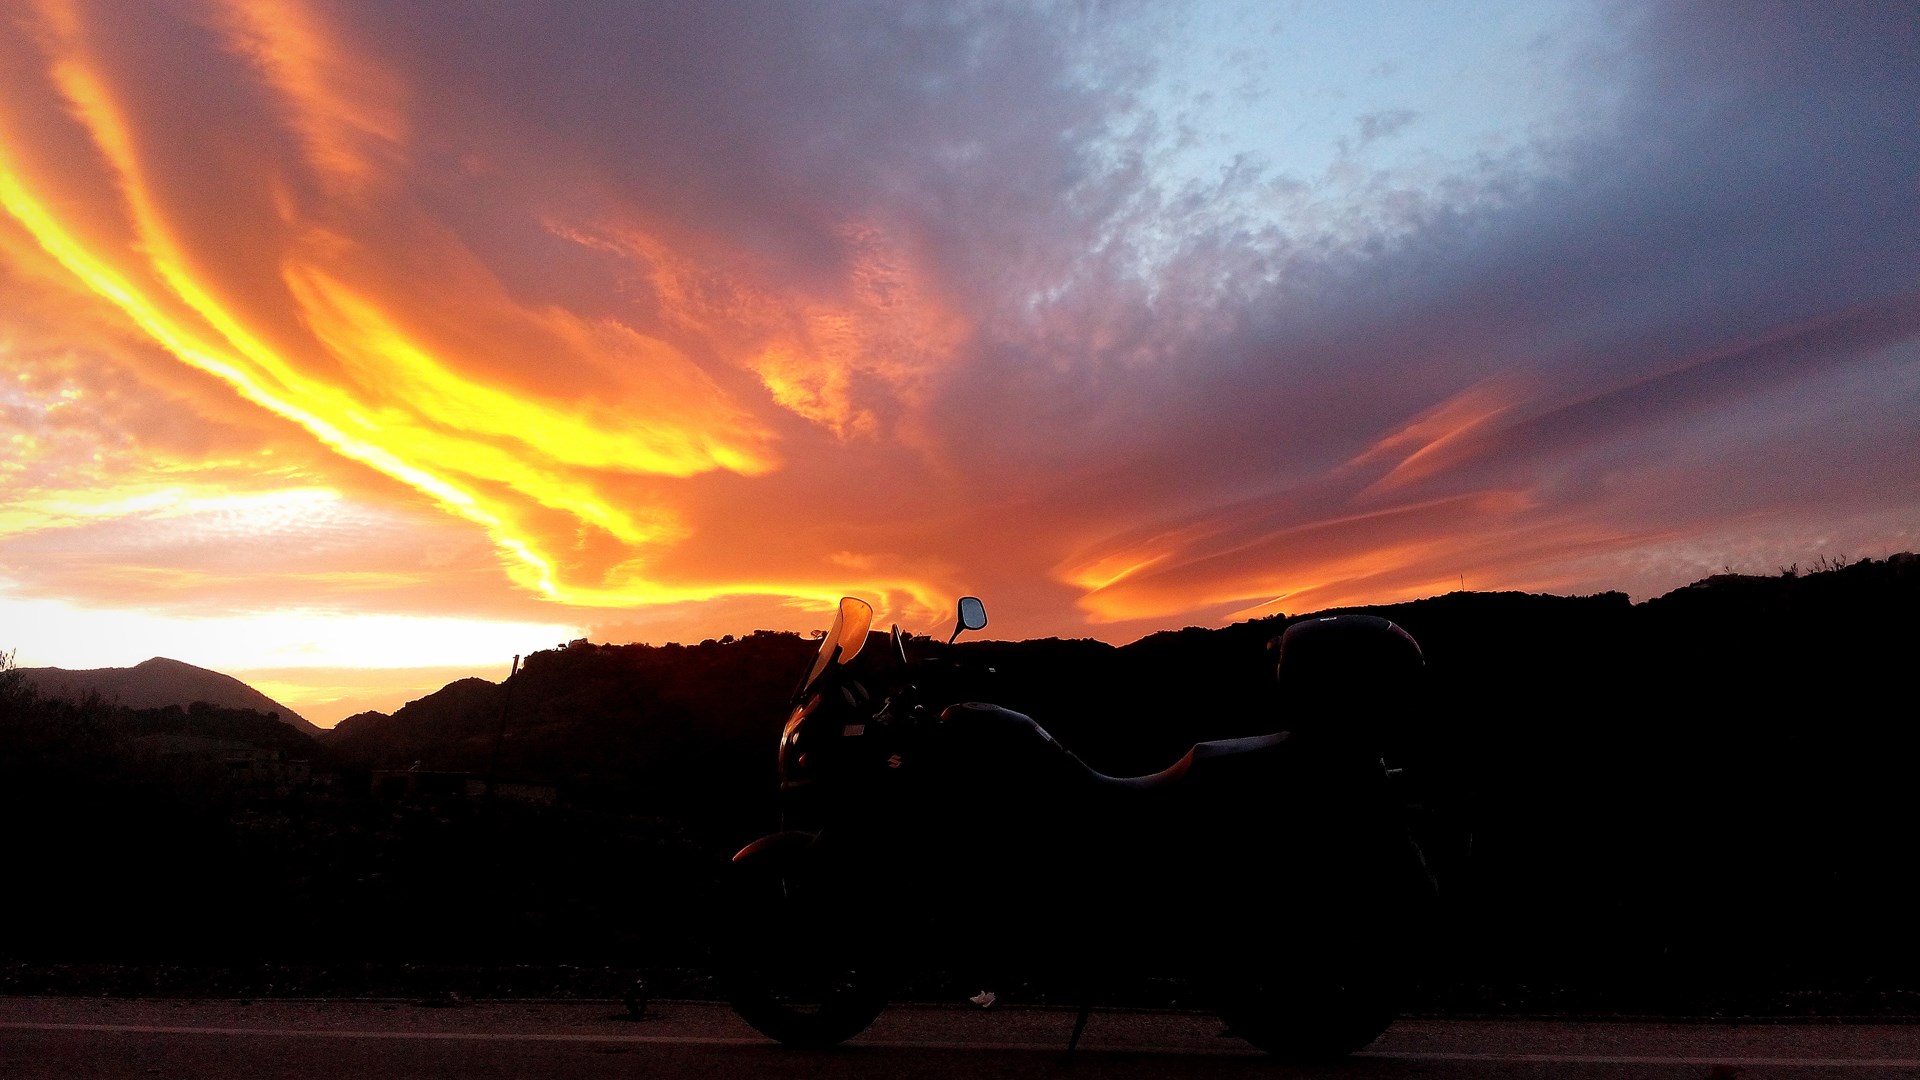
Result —
POLYGON ((1920 550, 1920 12, 17 0, 0 446, 0 651, 321 724, 1920 550))

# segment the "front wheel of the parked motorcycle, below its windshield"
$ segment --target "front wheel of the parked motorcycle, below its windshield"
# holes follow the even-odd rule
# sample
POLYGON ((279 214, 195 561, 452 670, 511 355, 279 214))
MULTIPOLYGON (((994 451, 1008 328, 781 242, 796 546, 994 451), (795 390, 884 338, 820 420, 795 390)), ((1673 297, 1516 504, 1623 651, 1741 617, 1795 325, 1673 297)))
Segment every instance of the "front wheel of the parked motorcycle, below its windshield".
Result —
POLYGON ((766 847, 730 867, 720 980, 739 1019, 795 1047, 829 1047, 887 1007, 887 978, 856 911, 812 849, 766 847))

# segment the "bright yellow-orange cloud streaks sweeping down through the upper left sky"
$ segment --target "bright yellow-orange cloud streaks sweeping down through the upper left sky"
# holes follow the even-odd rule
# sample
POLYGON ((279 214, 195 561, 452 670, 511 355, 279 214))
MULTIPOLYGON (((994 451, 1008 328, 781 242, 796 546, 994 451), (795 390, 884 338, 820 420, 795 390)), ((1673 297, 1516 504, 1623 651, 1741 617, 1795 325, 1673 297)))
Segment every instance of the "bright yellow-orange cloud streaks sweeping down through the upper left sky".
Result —
MULTIPOLYGON (((307 223, 303 215, 315 211, 284 194, 275 200, 275 211, 292 217, 280 223, 284 294, 269 304, 223 288, 217 275, 200 269, 213 252, 196 248, 182 234, 192 225, 169 215, 169 196, 157 190, 111 77, 86 48, 81 8, 46 4, 38 13, 52 81, 102 158, 104 171, 92 179, 117 192, 127 240, 106 242, 86 221, 69 219, 67 200, 42 194, 33 165, 6 152, 0 206, 98 300, 177 359, 307 429, 336 454, 486 528, 526 588, 593 605, 730 588, 660 588, 636 573, 643 567, 636 550, 674 542, 682 530, 672 507, 622 502, 601 479, 707 469, 751 475, 774 465, 756 421, 674 346, 612 321, 518 309, 432 231, 420 236, 440 240, 436 261, 451 279, 445 288, 394 281, 378 256, 307 223), (432 317, 420 321, 420 311, 432 317), (463 311, 480 313, 493 334, 449 331, 468 323, 463 311), (520 384, 476 380, 476 369, 518 373, 520 384), (582 392, 588 396, 576 396, 582 392), (588 571, 588 578, 568 580, 566 550, 541 530, 551 527, 540 509, 574 521, 566 532, 599 530, 624 546, 620 578, 591 584, 588 571)), ((407 131, 390 104, 396 81, 365 61, 342 60, 326 27, 296 4, 232 6, 227 15, 234 40, 294 117, 309 163, 351 181, 328 183, 351 188, 336 198, 351 200, 376 181, 386 158, 367 148, 394 148, 407 131)), ((71 177, 56 183, 67 190, 71 177)))

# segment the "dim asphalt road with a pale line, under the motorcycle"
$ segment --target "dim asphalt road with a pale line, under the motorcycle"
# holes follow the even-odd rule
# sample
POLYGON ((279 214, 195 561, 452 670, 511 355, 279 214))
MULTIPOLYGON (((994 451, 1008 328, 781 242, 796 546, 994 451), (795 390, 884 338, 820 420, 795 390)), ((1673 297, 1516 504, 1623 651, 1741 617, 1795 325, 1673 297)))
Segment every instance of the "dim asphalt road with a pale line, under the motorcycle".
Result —
POLYGON ((795 1051, 724 1005, 0 997, 0 1078, 1920 1078, 1920 1024, 1402 1020, 1336 1065, 1275 1063, 1206 1015, 1100 1011, 1062 1061, 1062 1009, 895 1007, 795 1051))

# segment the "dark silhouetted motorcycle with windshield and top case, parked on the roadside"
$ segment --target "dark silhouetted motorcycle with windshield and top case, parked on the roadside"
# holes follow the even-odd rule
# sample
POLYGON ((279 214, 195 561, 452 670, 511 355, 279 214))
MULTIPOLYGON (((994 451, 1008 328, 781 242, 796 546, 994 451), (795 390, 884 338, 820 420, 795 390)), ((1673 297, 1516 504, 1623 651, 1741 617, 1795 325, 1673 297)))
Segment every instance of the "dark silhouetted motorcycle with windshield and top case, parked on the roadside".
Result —
POLYGON ((1296 723, 1110 776, 1023 713, 943 701, 952 642, 987 625, 977 598, 945 646, 872 619, 841 600, 780 736, 781 828, 728 867, 716 959, 747 1024, 835 1045, 943 957, 981 982, 1064 972, 1068 1053, 1092 988, 1125 972, 1190 978, 1233 1034, 1290 1061, 1344 1057, 1396 1019, 1436 901, 1377 742, 1423 667, 1405 630, 1294 623, 1273 648, 1296 723))

